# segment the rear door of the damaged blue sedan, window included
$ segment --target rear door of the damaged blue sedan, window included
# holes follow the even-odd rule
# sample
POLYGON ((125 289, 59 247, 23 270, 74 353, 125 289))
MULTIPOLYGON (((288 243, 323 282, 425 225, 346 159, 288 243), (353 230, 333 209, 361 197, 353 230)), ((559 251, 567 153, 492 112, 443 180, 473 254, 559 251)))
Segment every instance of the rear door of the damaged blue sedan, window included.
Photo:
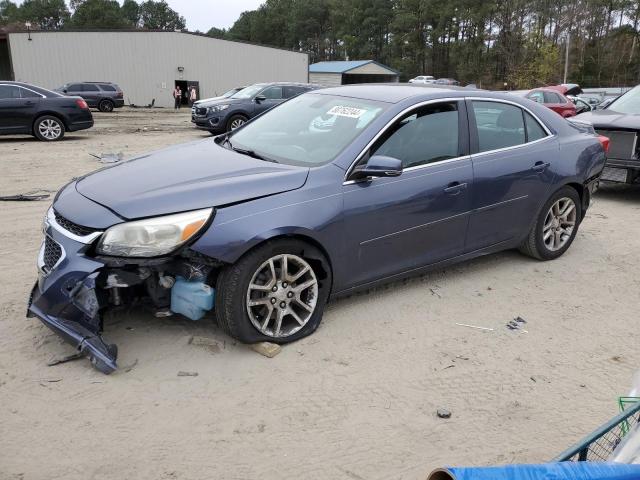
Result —
POLYGON ((474 188, 466 251, 524 238, 558 161, 554 136, 527 110, 468 100, 474 188))

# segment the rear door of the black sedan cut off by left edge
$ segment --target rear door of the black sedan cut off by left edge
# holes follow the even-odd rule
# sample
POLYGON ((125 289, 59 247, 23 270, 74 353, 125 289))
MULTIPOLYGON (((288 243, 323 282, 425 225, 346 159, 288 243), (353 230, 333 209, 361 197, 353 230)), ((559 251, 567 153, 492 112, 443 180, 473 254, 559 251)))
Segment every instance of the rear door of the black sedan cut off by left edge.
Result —
POLYGON ((42 95, 17 85, 0 84, 0 130, 29 133, 42 95))

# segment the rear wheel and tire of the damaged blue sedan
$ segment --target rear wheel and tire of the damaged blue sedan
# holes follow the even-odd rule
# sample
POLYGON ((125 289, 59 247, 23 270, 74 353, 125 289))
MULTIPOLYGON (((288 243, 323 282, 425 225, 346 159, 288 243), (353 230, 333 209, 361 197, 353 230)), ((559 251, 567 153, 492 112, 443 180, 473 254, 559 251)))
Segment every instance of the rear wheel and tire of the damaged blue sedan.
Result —
POLYGON ((562 256, 576 238, 581 220, 580 195, 574 188, 562 187, 545 202, 520 251, 538 260, 562 256))

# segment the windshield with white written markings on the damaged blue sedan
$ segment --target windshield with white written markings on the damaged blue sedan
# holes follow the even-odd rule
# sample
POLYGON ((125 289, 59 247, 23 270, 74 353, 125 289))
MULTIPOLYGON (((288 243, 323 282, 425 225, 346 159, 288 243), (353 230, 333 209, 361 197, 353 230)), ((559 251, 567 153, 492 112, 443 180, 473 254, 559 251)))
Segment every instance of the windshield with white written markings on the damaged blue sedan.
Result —
POLYGON ((388 104, 304 94, 256 118, 230 138, 234 149, 288 165, 331 162, 388 104))

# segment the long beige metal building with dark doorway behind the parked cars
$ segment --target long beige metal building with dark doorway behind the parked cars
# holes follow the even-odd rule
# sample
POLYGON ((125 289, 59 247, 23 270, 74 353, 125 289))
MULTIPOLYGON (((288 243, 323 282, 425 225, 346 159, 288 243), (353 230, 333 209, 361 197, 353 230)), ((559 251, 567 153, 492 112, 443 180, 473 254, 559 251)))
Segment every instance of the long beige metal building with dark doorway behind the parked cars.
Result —
POLYGON ((173 106, 176 85, 198 98, 259 82, 308 81, 309 57, 253 44, 171 31, 0 33, 0 80, 45 88, 117 83, 127 104, 173 106))

